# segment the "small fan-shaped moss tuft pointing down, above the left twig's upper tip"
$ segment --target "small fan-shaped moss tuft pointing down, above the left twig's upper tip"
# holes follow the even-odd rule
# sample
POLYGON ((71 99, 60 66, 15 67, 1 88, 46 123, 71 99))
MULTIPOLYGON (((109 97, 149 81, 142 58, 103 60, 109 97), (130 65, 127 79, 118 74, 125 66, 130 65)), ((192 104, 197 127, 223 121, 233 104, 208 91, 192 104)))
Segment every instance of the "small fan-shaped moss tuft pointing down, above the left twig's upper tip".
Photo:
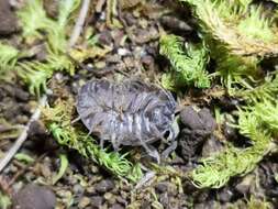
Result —
POLYGON ((40 62, 25 62, 20 63, 16 68, 18 75, 29 86, 29 91, 32 95, 40 97, 42 92, 46 91, 46 82, 53 74, 52 68, 49 68, 47 64, 40 62))

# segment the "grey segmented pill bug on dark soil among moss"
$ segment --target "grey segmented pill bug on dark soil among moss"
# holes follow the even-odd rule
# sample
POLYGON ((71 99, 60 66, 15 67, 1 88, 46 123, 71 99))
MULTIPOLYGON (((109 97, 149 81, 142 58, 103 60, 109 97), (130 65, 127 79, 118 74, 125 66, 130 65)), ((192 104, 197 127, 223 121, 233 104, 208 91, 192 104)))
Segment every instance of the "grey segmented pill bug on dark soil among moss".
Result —
POLYGON ((167 133, 173 138, 175 109, 168 91, 141 80, 90 80, 77 96, 79 119, 102 146, 104 141, 111 141, 115 150, 144 146, 157 161, 157 151, 149 144, 167 133))

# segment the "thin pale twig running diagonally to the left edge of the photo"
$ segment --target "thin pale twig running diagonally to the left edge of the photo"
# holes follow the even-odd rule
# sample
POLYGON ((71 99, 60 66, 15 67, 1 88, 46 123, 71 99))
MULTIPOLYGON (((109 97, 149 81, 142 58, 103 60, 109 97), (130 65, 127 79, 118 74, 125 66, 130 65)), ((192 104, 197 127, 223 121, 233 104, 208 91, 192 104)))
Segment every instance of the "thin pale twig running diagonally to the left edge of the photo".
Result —
POLYGON ((14 144, 12 145, 12 147, 5 153, 4 157, 0 161, 0 173, 9 164, 9 162, 12 160, 12 157, 14 156, 14 154, 20 150, 20 147, 23 144, 23 142, 27 139, 27 132, 29 132, 30 125, 31 125, 31 123, 33 121, 38 120, 38 118, 41 116, 41 107, 44 107, 45 103, 46 103, 46 95, 44 95, 40 99, 40 106, 36 108, 35 112, 32 114, 30 121, 24 127, 22 133, 16 139, 16 141, 14 142, 14 144))

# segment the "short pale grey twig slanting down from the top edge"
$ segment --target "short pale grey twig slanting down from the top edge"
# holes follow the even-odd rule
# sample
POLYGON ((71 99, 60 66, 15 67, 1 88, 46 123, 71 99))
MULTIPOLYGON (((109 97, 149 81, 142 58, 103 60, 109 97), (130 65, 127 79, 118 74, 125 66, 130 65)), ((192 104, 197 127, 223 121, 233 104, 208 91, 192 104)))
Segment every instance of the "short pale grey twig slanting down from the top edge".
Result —
POLYGON ((73 31, 73 33, 70 35, 70 38, 69 38, 69 44, 68 44, 69 48, 73 47, 76 44, 76 42, 77 42, 81 31, 82 31, 82 26, 84 26, 84 23, 85 23, 85 19, 87 16, 87 12, 89 10, 89 6, 90 6, 90 0, 84 0, 82 8, 79 12, 79 15, 78 15, 78 19, 76 21, 74 31, 73 31))

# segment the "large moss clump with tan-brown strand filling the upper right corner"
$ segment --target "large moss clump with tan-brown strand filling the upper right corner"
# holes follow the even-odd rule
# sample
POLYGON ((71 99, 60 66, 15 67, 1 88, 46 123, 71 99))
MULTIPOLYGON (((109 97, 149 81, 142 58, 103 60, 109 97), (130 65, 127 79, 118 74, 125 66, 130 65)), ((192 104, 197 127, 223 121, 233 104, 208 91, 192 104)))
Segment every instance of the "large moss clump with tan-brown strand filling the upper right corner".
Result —
POLYGON ((180 0, 189 3, 201 36, 216 61, 216 72, 230 94, 262 78, 258 63, 278 54, 277 28, 251 1, 180 0))

